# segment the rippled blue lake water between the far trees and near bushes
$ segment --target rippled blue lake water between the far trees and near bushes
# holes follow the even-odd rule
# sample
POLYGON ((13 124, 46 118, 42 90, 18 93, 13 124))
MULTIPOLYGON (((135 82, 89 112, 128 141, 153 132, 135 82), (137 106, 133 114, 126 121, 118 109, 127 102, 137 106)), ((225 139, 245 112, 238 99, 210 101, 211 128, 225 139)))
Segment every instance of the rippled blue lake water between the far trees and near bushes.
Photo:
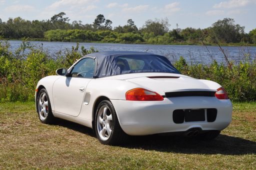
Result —
MULTIPOLYGON (((9 40, 10 49, 14 51, 19 47, 20 40, 9 40)), ((30 44, 43 46, 43 49, 52 56, 58 51, 71 49, 75 42, 47 42, 30 41, 30 44)), ((86 49, 93 46, 98 51, 126 50, 126 51, 147 51, 154 54, 164 55, 170 61, 177 60, 183 56, 189 63, 210 63, 212 59, 225 63, 225 58, 218 46, 202 45, 152 45, 152 44, 120 44, 120 43, 79 43, 86 49)), ((245 58, 256 59, 256 46, 222 46, 229 60, 235 63, 245 58)))

